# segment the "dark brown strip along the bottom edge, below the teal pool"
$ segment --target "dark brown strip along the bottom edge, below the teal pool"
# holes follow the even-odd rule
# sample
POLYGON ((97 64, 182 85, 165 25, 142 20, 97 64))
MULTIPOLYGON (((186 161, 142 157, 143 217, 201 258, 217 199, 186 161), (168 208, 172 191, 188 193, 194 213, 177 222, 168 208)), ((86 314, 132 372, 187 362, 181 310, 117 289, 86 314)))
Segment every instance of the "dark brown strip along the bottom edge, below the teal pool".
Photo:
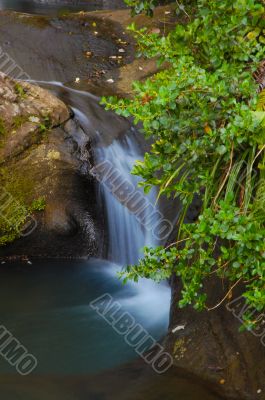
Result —
POLYGON ((194 377, 178 375, 172 368, 159 375, 143 360, 67 378, 2 374, 0 384, 5 400, 15 399, 18 392, 24 396, 21 400, 221 400, 194 377))

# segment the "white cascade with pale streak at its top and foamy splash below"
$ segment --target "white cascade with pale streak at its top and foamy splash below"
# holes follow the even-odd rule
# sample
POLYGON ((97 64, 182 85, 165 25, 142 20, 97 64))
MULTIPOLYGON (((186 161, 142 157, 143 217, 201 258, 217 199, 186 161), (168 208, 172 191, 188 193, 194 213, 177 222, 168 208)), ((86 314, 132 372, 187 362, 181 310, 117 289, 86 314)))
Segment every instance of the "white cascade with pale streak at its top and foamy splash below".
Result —
MULTIPOLYGON (((58 85, 57 85, 58 86, 58 85)), ((73 93, 70 89, 69 93, 73 93)), ((79 95, 82 92, 79 92, 79 95)), ((85 97, 87 97, 87 93, 85 97)), ((89 102, 95 98, 87 98, 89 102)), ((89 106, 90 107, 90 106, 89 106)), ((98 129, 91 120, 91 109, 82 107, 82 111, 72 104, 79 124, 94 142, 95 168, 93 175, 99 181, 98 203, 104 210, 107 222, 108 250, 107 259, 111 265, 103 266, 103 273, 116 278, 117 272, 126 265, 136 264, 142 256, 145 246, 156 246, 159 238, 155 226, 160 227, 162 214, 156 205, 157 192, 152 189, 147 195, 138 187, 139 178, 131 174, 137 160, 142 160, 143 152, 137 138, 137 131, 130 128, 127 132, 110 140, 110 129, 98 129), (103 170, 102 167, 103 166, 103 170), (103 171, 103 173, 102 173, 103 171), (124 202, 126 189, 130 194, 124 202), (119 196, 119 194, 121 196, 119 196), (132 199, 132 200, 131 200, 132 199), (124 204, 125 203, 125 204, 124 204), (134 211, 134 212, 133 212, 134 211)), ((112 123, 114 121, 112 120, 112 123)), ((116 126, 120 123, 118 119, 116 126)), ((104 123, 106 127, 106 122, 104 123)), ((112 127, 113 128, 113 127, 112 127)), ((162 229, 163 232, 163 229, 162 229)), ((147 279, 138 283, 128 283, 127 290, 133 295, 124 296, 122 290, 118 300, 122 306, 134 314, 146 327, 160 327, 164 331, 169 317, 170 289, 166 284, 157 284, 147 279), (152 315, 151 319, 147 317, 152 315)))

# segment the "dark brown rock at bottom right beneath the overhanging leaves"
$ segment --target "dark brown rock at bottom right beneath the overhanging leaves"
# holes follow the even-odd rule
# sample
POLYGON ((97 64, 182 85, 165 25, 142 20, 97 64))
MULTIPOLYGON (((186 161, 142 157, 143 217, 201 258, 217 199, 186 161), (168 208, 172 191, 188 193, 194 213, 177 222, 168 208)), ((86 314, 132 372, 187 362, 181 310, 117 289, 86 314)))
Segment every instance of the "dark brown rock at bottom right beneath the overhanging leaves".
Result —
MULTIPOLYGON (((180 290, 180 282, 174 279, 166 338, 174 365, 212 384, 213 389, 226 399, 264 399, 262 366, 265 348, 261 337, 246 331, 240 333, 240 321, 225 303, 213 311, 178 309, 180 290), (177 327, 179 330, 174 332, 177 327)), ((229 287, 226 284, 221 287, 219 282, 213 281, 208 283, 206 290, 211 307, 220 302, 229 287)), ((233 293, 234 299, 238 296, 240 291, 233 293)))

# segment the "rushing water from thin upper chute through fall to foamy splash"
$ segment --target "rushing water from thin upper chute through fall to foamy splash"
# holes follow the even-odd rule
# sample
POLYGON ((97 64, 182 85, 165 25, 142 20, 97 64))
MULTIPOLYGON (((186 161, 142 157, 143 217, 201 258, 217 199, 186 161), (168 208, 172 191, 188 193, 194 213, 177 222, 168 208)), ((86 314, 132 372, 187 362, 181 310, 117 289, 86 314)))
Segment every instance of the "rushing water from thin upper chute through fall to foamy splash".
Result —
MULTIPOLYGON (((156 207, 156 191, 153 190, 148 195, 144 195, 143 191, 137 187, 139 178, 131 175, 135 161, 143 158, 135 131, 131 129, 126 135, 122 135, 122 138, 112 140, 112 137, 115 137, 115 130, 119 129, 119 121, 113 117, 108 119, 109 114, 105 114, 101 109, 99 111, 97 109, 96 113, 94 112, 95 104, 98 104, 96 96, 69 88, 61 82, 36 83, 48 85, 49 89, 55 92, 56 89, 60 88, 68 94, 66 98, 69 106, 73 109, 82 129, 92 138, 96 146, 94 149, 95 163, 108 161, 112 170, 117 169, 124 181, 130 182, 135 187, 135 191, 141 191, 142 197, 156 207), (80 97, 86 99, 85 103, 81 103, 81 108, 80 97), (108 122, 110 126, 107 126, 108 122)), ((58 92, 57 95, 61 96, 62 93, 58 92)), ((137 219, 135 213, 130 212, 127 207, 121 204, 103 183, 99 184, 98 202, 101 203, 107 219, 107 258, 110 261, 107 264, 99 262, 98 270, 103 274, 103 280, 108 279, 108 277, 116 280, 117 272, 121 268, 138 262, 144 246, 156 246, 158 241, 150 226, 148 229, 144 224, 141 224, 141 220, 137 219)), ((143 222, 147 215, 143 212, 141 216, 143 222)), ((154 224, 156 222, 158 221, 153 221, 154 224)), ((104 239, 102 238, 102 240, 104 239)), ((129 282, 119 293, 118 300, 125 310, 134 314, 137 320, 141 322, 145 320, 147 323, 145 326, 151 328, 161 325, 166 330, 170 307, 170 288, 168 285, 158 285, 147 279, 140 279, 138 283, 129 282), (126 290, 127 288, 129 290, 126 290)))

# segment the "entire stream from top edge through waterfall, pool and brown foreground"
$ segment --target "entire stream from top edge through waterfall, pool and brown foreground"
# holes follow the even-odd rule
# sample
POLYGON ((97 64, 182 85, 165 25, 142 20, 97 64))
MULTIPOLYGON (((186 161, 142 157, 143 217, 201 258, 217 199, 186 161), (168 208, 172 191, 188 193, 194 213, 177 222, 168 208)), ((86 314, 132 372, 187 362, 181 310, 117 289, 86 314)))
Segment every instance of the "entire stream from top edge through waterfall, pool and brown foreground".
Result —
MULTIPOLYGON (((0 1, 0 8, 34 13, 40 11, 39 7, 46 14, 50 14, 51 9, 52 13, 58 11, 52 1, 47 4, 0 1)), ((113 2, 88 1, 87 9, 110 5, 113 2)), ((76 10, 79 6, 73 5, 76 10)), ((119 7, 120 3, 117 1, 115 6, 119 7)), ((80 7, 84 8, 83 4, 80 7)), ((60 82, 37 83, 52 90, 73 109, 82 129, 94 139, 96 165, 107 162, 112 171, 120 173, 123 185, 130 184, 143 196, 137 188, 138 178, 130 174, 135 161, 143 155, 137 132, 128 125, 123 126, 119 117, 106 113, 90 93, 68 88, 60 82)), ((108 227, 106 260, 43 260, 31 266, 7 266, 0 270, 1 324, 38 360, 32 376, 22 381, 15 369, 0 357, 2 398, 216 399, 196 383, 171 375, 161 378, 143 362, 139 366, 135 350, 90 307, 91 301, 108 293, 155 340, 167 332, 168 285, 141 279, 138 284, 123 286, 116 277, 123 266, 137 262, 144 246, 155 246, 158 239, 143 223, 148 219, 145 211, 141 212, 140 220, 137 212, 132 212, 113 193, 115 182, 113 190, 106 183, 98 184, 98 204, 108 227)), ((155 190, 146 199, 157 209, 155 190)), ((159 221, 154 223, 159 224, 159 221)))

